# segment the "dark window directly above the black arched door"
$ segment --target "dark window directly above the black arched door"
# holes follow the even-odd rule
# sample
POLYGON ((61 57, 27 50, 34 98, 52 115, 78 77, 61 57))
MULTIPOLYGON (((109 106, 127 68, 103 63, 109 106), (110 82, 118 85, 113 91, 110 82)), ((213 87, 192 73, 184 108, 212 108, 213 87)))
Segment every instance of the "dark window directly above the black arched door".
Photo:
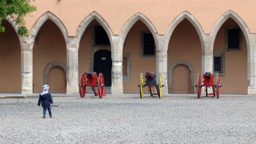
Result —
POLYGON ((108 35, 102 26, 95 26, 95 45, 110 45, 108 35))

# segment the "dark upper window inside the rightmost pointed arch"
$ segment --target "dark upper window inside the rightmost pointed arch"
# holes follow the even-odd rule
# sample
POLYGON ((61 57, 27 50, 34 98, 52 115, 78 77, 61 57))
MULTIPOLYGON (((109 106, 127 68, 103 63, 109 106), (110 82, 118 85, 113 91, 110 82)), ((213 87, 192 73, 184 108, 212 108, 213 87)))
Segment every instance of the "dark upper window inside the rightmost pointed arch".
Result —
POLYGON ((241 49, 241 36, 239 28, 227 28, 227 48, 228 50, 241 49))

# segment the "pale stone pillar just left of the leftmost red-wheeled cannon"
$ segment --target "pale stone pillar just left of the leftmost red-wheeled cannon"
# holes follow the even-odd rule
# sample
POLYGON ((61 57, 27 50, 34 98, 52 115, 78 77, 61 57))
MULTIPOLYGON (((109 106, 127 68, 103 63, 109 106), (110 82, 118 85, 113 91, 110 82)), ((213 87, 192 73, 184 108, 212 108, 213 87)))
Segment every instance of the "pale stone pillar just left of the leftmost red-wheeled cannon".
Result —
POLYGON ((79 93, 78 47, 76 38, 67 42, 67 94, 79 93))

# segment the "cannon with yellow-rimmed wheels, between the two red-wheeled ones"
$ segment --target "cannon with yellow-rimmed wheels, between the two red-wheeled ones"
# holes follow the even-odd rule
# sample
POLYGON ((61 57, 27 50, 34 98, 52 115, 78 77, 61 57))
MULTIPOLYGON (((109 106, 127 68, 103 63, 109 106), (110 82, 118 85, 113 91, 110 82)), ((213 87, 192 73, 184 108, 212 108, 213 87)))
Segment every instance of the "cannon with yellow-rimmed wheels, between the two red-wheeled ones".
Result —
POLYGON ((144 84, 143 74, 141 73, 140 74, 140 84, 138 84, 138 87, 140 88, 140 98, 143 98, 143 95, 144 95, 143 88, 145 86, 148 86, 148 92, 150 92, 151 96, 153 96, 152 88, 154 88, 154 86, 156 86, 157 95, 158 95, 159 99, 161 99, 161 97, 162 97, 162 88, 164 86, 164 84, 162 84, 161 74, 159 75, 158 83, 156 81, 156 74, 154 74, 154 72, 146 72, 145 78, 146 78, 146 81, 145 81, 145 84, 144 84))

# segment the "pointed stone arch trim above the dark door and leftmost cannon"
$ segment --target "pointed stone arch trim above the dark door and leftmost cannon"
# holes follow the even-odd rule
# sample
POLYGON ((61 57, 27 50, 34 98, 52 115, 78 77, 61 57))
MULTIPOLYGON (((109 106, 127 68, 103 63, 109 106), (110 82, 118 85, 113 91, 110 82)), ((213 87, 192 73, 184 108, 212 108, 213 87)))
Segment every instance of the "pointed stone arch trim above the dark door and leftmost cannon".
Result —
POLYGON ((82 22, 79 24, 79 26, 77 28, 77 31, 76 31, 77 42, 81 41, 81 37, 83 36, 84 31, 86 30, 86 28, 89 26, 89 24, 93 20, 97 20, 97 22, 99 22, 100 25, 104 28, 104 30, 106 31, 106 33, 109 37, 109 41, 110 41, 110 44, 111 44, 111 47, 112 47, 112 45, 113 45, 113 40, 112 40, 113 31, 109 27, 106 20, 104 20, 103 17, 101 15, 99 15, 99 13, 97 13, 97 12, 90 13, 90 15, 88 15, 85 19, 83 19, 82 22))

